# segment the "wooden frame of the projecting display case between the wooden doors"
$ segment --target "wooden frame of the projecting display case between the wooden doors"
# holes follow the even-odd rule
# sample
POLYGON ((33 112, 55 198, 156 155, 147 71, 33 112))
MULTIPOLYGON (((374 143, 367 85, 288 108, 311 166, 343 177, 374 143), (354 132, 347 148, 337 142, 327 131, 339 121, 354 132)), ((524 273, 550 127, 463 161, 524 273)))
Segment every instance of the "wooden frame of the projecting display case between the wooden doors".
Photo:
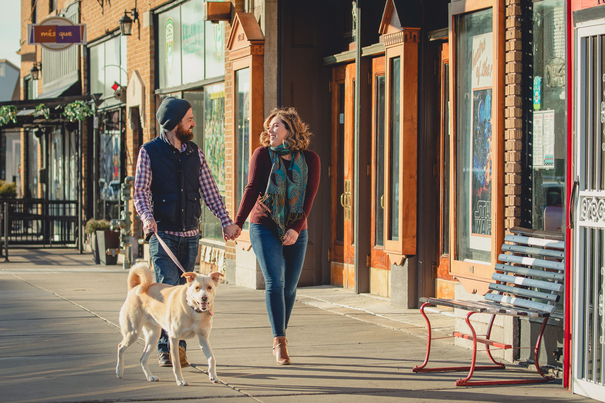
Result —
MULTIPOLYGON (((418 127, 418 43, 420 28, 404 28, 397 32, 400 40, 389 41, 385 50, 385 194, 384 251, 397 255, 416 254, 416 194, 417 194, 417 127, 418 127), (399 156, 399 240, 388 239, 391 225, 391 60, 400 58, 399 156), (405 195, 405 197, 403 196, 405 195)), ((386 43, 386 42, 385 42, 386 43)))

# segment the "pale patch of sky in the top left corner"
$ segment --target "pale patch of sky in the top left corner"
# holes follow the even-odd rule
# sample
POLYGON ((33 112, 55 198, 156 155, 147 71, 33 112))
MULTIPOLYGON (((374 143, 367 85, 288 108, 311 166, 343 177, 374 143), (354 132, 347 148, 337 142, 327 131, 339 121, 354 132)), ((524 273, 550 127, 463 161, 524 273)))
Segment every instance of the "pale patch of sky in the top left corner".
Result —
POLYGON ((0 24, 0 59, 8 59, 15 66, 21 66, 21 56, 15 52, 21 47, 21 1, 0 0, 2 24, 0 24))

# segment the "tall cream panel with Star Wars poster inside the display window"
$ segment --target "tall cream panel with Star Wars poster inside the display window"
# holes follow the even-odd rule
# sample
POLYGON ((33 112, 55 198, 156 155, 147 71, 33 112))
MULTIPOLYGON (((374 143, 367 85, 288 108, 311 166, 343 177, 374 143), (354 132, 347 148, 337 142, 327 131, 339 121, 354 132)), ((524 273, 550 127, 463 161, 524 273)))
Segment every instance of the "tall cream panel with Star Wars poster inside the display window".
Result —
POLYGON ((471 82, 470 243, 471 248, 491 250, 492 190, 492 50, 493 34, 473 36, 471 82))

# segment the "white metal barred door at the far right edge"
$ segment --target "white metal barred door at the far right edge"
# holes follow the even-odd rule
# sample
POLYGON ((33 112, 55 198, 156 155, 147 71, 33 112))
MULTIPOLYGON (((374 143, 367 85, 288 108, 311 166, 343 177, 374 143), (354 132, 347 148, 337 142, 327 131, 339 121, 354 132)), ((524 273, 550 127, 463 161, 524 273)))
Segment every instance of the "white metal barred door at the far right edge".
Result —
POLYGON ((605 401, 605 25, 577 38, 572 392, 605 401))

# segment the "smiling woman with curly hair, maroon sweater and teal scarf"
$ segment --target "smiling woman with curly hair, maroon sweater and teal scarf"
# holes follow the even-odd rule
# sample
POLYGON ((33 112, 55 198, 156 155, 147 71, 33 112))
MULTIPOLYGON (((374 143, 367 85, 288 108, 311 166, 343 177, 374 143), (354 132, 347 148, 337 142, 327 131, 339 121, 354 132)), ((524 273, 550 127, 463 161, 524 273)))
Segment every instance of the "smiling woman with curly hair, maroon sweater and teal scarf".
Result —
POLYGON ((296 109, 275 108, 250 160, 248 184, 235 224, 250 214, 250 242, 265 279, 273 355, 290 364, 286 328, 307 250, 307 216, 319 185, 319 156, 296 109))

